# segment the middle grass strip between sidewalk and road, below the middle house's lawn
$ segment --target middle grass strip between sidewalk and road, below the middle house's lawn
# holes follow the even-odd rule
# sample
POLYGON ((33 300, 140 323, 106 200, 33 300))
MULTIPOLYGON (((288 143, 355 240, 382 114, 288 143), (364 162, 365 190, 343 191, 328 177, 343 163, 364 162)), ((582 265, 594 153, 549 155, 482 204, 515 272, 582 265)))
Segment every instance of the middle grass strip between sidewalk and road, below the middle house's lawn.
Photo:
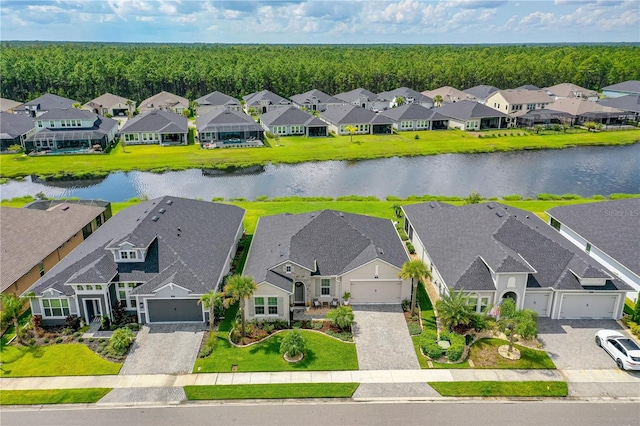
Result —
POLYGON ((185 386, 187 399, 351 398, 358 383, 185 386))

